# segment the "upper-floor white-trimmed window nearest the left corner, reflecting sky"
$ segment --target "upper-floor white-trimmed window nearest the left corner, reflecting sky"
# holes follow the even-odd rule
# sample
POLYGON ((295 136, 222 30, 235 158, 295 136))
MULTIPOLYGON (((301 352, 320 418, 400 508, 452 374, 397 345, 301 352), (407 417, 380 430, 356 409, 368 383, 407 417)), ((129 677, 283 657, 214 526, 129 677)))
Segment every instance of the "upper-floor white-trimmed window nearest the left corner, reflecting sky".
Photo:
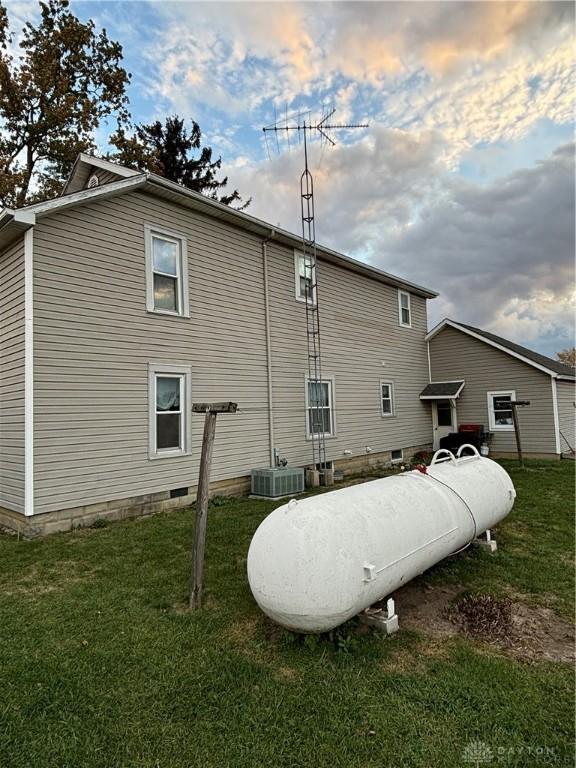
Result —
POLYGON ((146 226, 146 308, 189 316, 186 238, 146 226))

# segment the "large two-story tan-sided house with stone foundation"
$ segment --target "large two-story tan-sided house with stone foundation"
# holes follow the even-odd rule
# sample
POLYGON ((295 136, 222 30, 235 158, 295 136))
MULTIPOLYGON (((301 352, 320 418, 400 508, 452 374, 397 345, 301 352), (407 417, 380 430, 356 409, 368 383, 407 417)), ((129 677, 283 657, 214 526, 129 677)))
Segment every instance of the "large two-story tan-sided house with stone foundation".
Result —
MULTIPOLYGON (((213 492, 276 448, 311 461, 300 239, 153 174, 80 156, 64 195, 0 213, 0 522, 27 533, 189 504, 203 417, 213 492)), ((327 458, 430 445, 426 302, 318 250, 327 458)))

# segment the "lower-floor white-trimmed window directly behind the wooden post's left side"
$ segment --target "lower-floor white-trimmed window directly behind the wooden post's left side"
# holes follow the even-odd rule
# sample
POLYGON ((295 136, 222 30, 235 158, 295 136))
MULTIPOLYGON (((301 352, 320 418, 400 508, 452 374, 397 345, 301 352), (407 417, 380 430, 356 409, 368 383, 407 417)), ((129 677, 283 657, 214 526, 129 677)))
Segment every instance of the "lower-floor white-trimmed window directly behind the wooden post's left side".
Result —
POLYGON ((149 366, 150 458, 190 452, 190 368, 149 366))

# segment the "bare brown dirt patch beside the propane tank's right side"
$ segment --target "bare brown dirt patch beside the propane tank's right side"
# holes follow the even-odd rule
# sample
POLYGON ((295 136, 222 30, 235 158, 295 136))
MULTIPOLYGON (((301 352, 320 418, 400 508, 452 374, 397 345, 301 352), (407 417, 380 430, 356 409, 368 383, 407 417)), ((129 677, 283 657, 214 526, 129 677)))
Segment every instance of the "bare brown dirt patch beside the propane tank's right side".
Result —
POLYGON ((506 632, 494 632, 491 623, 481 619, 477 631, 470 632, 470 625, 455 610, 464 594, 457 585, 406 585, 395 595, 400 627, 435 638, 466 636, 522 661, 573 663, 574 626, 550 608, 529 604, 515 595, 509 601, 506 632))

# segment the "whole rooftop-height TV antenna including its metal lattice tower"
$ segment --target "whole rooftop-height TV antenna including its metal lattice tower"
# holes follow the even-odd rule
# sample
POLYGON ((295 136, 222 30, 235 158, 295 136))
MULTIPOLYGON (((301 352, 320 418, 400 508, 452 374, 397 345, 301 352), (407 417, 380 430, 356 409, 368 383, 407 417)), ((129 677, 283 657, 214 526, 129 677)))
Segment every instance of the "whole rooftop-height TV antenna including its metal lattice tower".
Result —
MULTIPOLYGON (((332 109, 322 120, 314 123, 302 118, 300 112, 295 122, 293 116, 286 117, 280 122, 274 123, 262 129, 266 140, 268 134, 274 134, 276 146, 279 148, 278 136, 284 135, 290 148, 290 133, 296 131, 298 139, 304 138, 304 171, 300 177, 300 210, 302 218, 302 255, 303 271, 300 280, 304 281, 304 298, 306 307, 306 348, 308 355, 308 429, 312 444, 312 468, 317 469, 320 478, 325 483, 326 464, 326 432, 332 431, 334 414, 329 413, 326 418, 326 410, 331 407, 328 394, 328 383, 322 380, 322 356, 320 346, 320 310, 318 296, 318 277, 316 271, 316 224, 314 215, 314 179, 308 167, 308 138, 313 134, 320 135, 320 141, 325 141, 334 146, 336 143, 329 135, 330 131, 339 129, 367 128, 367 124, 343 124, 329 123, 328 120, 335 113, 332 109), (282 125, 282 123, 285 123, 282 125)), ((309 114, 309 113, 304 113, 309 114)), ((268 143, 266 143, 268 147, 268 143)))

